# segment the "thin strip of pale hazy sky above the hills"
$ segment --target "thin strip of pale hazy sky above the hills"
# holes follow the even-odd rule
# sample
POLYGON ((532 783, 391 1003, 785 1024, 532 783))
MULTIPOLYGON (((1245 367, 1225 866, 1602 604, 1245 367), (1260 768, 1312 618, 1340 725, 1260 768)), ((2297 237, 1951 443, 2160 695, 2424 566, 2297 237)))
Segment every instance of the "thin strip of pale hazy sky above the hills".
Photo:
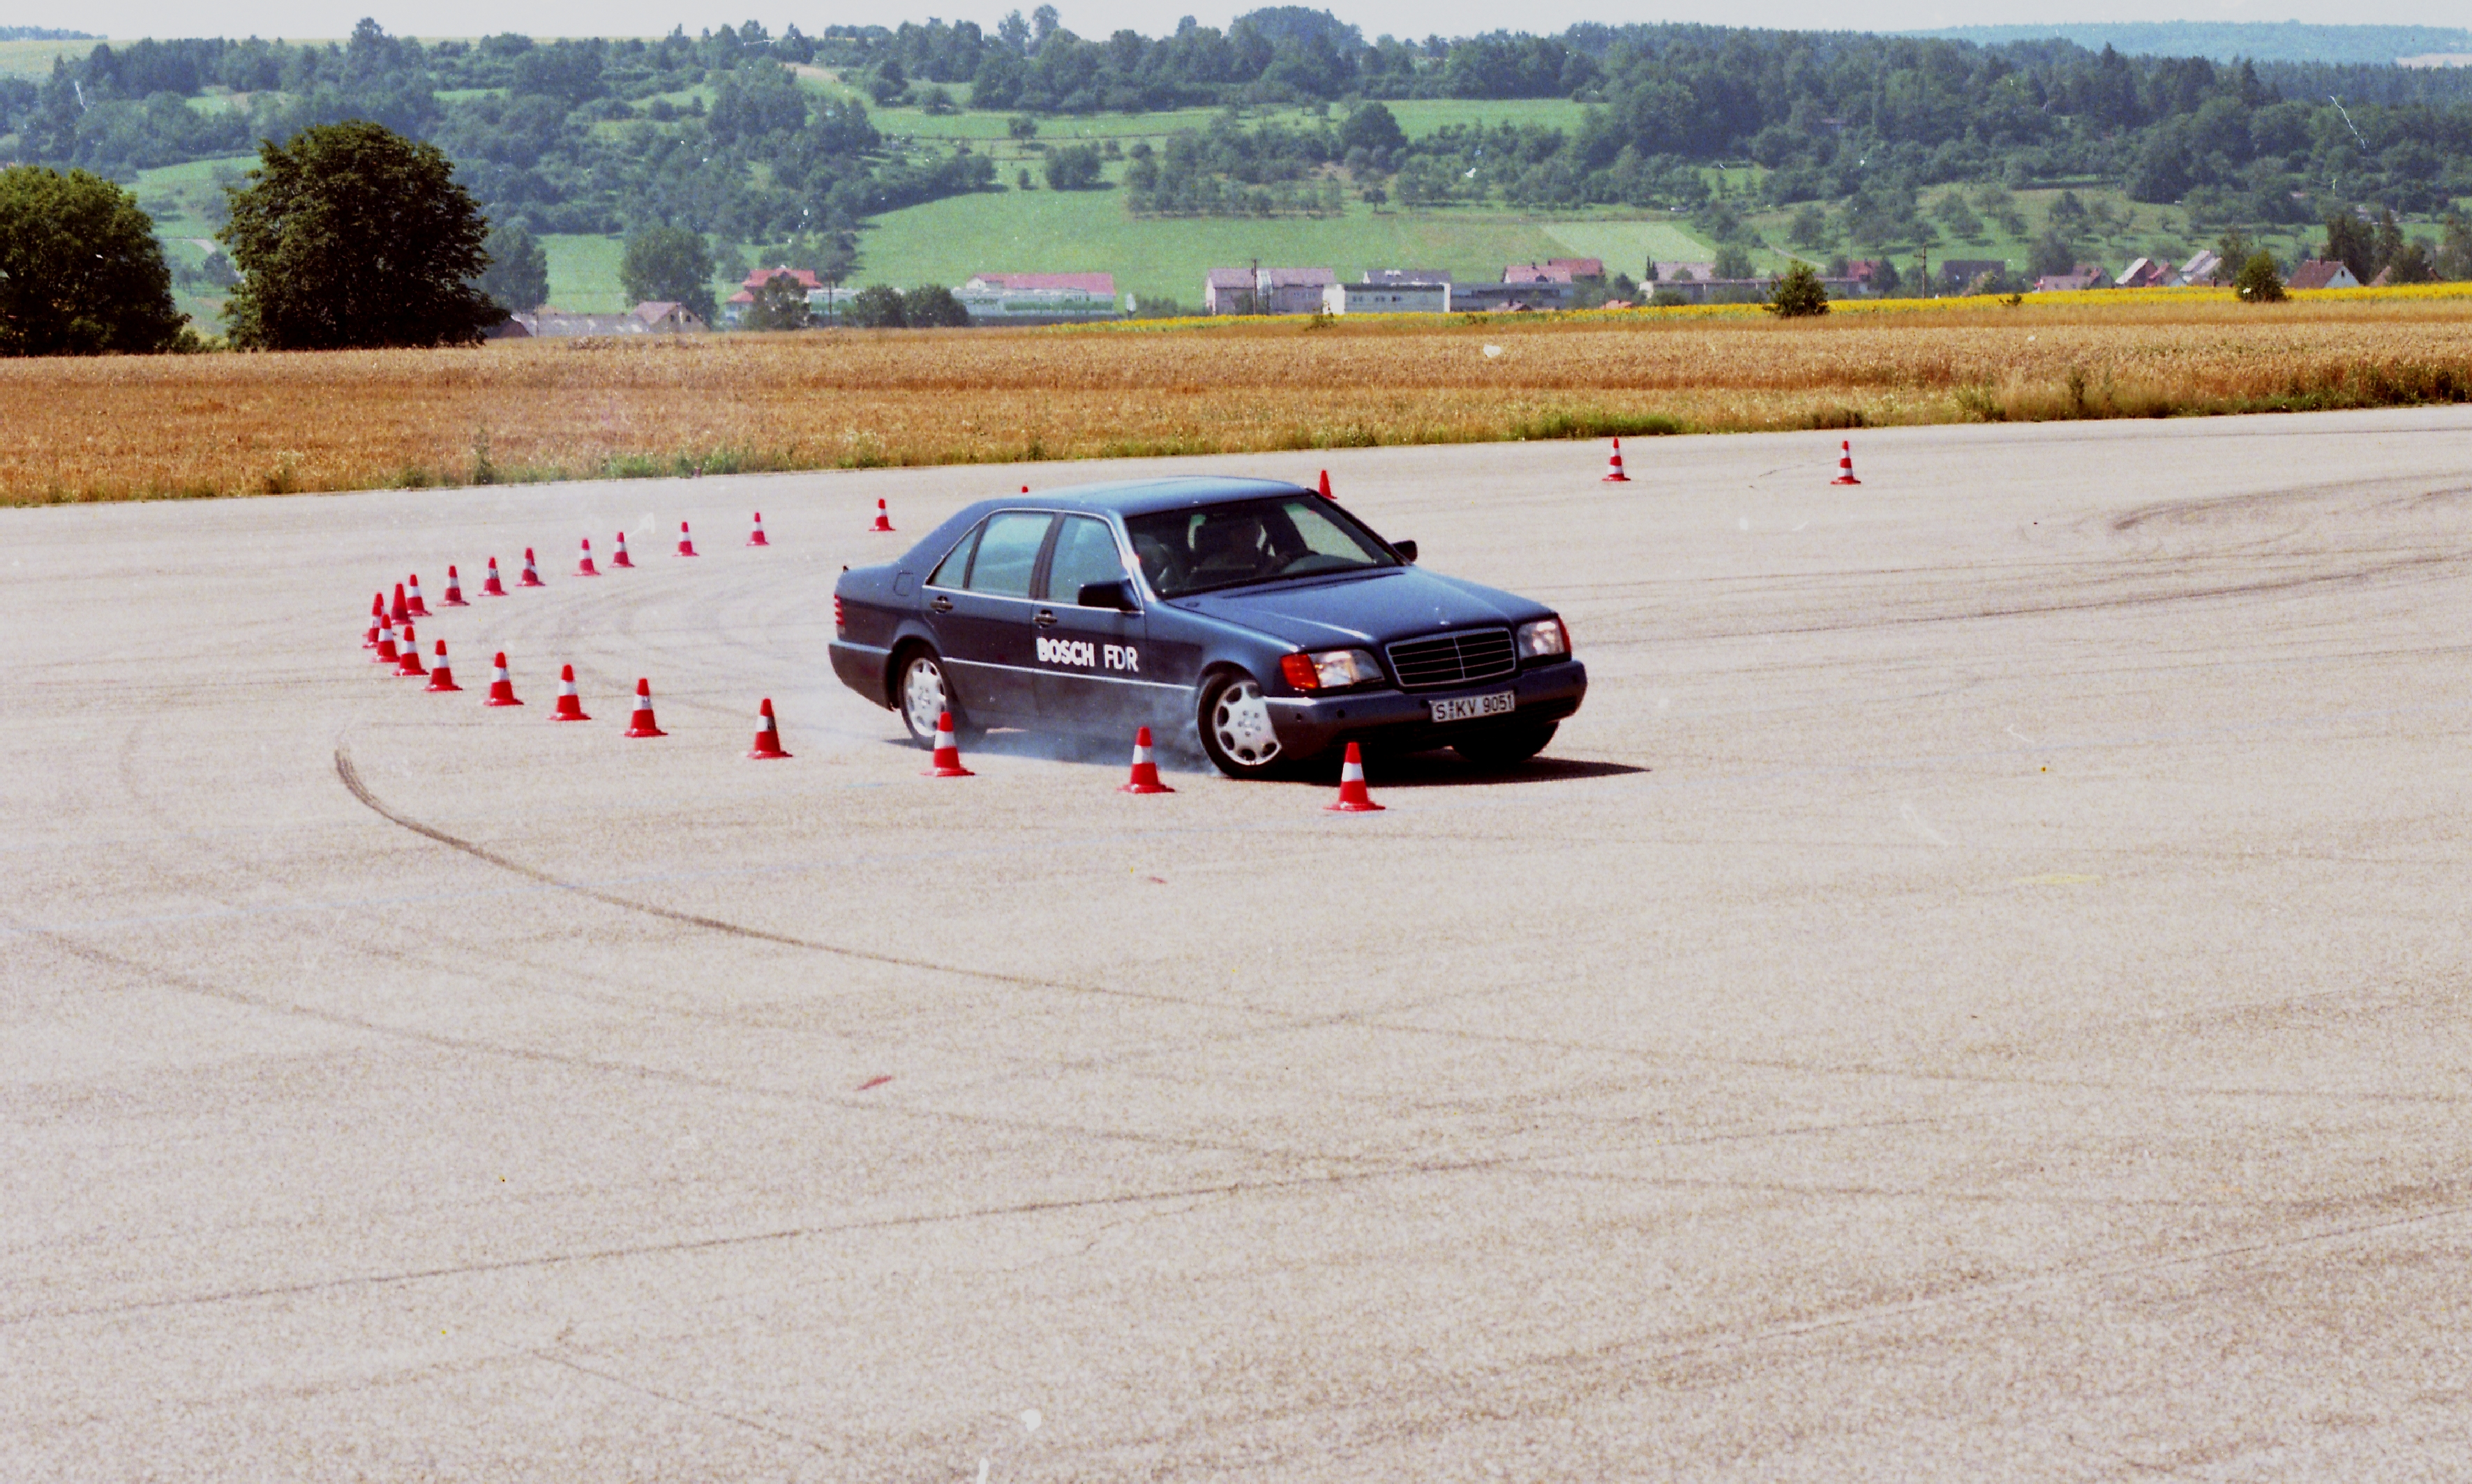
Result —
MULTIPOLYGON (((1033 10, 1036 0, 1021 5, 1033 10)), ((1174 30, 1177 15, 1194 15, 1201 25, 1226 25, 1229 17, 1253 10, 1246 5, 1206 5, 1172 0, 1169 5, 1142 5, 1135 0, 1073 0, 1060 2, 1065 27, 1103 37, 1117 27, 1135 27, 1145 35, 1174 30)), ((2002 5, 1945 5, 1938 0, 1879 0, 1874 5, 1822 5, 1819 0, 1743 0, 1740 5, 1639 5, 1636 0, 1533 0, 1525 5, 1498 5, 1486 0, 1365 0, 1362 5, 1327 5, 1342 20, 1365 27, 1367 37, 1382 32, 1421 37, 1429 32, 1471 35, 1486 30, 1552 32, 1577 20, 1723 20, 1728 25, 1775 27, 1829 27, 1829 30, 1918 30, 1941 25, 2022 25, 2067 15, 2089 20, 2316 20, 2316 22, 2383 22, 2383 25, 2467 25, 2462 0, 2353 0, 2329 12, 2326 5, 2299 5, 2289 0, 2185 0, 2180 5, 2148 5, 2143 0, 2089 0, 2054 7, 2049 2, 2027 5, 2007 0, 2002 5)), ((452 37, 517 30, 536 37, 559 35, 665 35, 672 25, 685 25, 687 35, 747 20, 754 15, 771 30, 796 22, 816 32, 833 22, 897 25, 902 20, 976 20, 994 22, 1011 10, 1009 2, 952 0, 883 0, 863 7, 796 7, 784 10, 771 2, 712 0, 709 7, 680 0, 358 0, 329 5, 324 0, 240 0, 237 5, 200 7, 173 0, 0 0, 0 25, 52 25, 67 30, 99 32, 111 37, 195 37, 195 35, 265 35, 265 37, 339 37, 351 25, 373 15, 378 25, 400 35, 452 37)))

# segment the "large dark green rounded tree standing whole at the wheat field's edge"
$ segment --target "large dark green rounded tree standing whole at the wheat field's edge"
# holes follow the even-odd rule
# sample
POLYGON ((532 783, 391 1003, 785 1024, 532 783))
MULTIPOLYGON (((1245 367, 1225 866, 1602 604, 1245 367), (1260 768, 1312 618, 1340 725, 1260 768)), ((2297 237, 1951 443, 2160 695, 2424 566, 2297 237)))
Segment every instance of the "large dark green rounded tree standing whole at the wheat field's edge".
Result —
POLYGON ((489 225, 435 143, 383 124, 314 124, 257 146, 227 188, 240 287, 232 344, 267 351, 472 344, 502 312, 472 287, 489 225))

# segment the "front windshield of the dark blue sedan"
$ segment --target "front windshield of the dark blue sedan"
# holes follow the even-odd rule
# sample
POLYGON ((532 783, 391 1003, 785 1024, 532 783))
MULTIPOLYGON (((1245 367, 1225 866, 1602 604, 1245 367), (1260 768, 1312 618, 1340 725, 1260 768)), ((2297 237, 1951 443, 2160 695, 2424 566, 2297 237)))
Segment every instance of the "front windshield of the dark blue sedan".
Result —
POLYGON ((1209 589, 1399 566, 1369 529, 1313 495, 1125 517, 1142 576, 1162 599, 1209 589))

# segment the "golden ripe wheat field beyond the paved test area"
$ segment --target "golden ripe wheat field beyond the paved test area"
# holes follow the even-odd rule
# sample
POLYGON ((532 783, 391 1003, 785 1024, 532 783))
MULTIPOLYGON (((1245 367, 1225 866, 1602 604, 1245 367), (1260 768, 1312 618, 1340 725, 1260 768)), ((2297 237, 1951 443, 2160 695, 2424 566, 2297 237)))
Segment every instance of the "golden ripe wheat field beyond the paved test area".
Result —
POLYGON ((2472 297, 0 361, 0 502, 2472 401, 2472 297))

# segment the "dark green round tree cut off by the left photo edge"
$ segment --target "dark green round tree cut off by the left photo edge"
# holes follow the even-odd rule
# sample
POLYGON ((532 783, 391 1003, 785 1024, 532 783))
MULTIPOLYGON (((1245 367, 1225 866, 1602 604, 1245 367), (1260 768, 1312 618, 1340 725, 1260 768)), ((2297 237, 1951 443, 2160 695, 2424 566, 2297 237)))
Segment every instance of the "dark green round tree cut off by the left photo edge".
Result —
POLYGON ((0 356, 148 354, 183 334, 133 195, 87 171, 0 171, 0 356))

